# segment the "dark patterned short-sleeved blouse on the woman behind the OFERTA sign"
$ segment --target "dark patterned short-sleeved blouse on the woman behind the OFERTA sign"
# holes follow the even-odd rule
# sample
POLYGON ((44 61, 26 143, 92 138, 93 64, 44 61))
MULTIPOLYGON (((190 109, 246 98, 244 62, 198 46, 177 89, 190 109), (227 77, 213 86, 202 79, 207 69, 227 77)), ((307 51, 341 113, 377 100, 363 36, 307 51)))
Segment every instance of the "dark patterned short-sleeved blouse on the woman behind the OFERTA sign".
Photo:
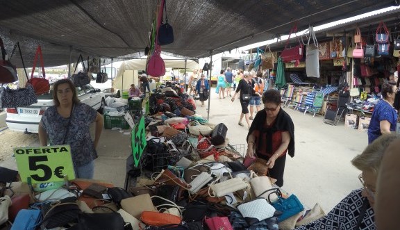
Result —
MULTIPOLYGON (((97 158, 97 151, 90 137, 90 124, 96 120, 97 111, 87 104, 78 103, 71 115, 69 131, 65 145, 71 146, 74 167, 86 165, 97 158)), ((63 145, 69 118, 57 112, 56 106, 50 106, 42 116, 42 124, 49 135, 50 145, 63 145)))

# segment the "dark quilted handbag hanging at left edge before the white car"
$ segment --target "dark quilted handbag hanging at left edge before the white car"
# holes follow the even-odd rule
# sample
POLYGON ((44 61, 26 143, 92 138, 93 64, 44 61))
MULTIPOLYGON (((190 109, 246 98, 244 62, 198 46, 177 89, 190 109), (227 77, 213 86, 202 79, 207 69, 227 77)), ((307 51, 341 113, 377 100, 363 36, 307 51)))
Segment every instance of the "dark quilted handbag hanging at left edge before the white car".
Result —
POLYGON ((17 108, 38 103, 38 97, 30 83, 26 83, 26 88, 12 90, 1 87, 0 91, 3 91, 0 92, 1 108, 17 108))

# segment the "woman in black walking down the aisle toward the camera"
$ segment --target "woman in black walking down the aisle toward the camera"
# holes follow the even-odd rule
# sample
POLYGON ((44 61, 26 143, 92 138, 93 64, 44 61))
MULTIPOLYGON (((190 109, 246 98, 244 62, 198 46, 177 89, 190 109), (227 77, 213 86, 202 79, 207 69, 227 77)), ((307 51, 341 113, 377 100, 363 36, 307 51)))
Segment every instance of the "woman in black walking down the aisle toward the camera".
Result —
POLYGON ((246 117, 246 122, 247 122, 247 126, 250 129, 250 121, 249 121, 249 100, 243 100, 243 95, 259 95, 261 97, 261 95, 254 91, 254 89, 251 87, 251 79, 249 76, 249 73, 245 73, 244 77, 242 80, 239 81, 239 85, 238 88, 236 88, 235 91, 235 95, 233 95, 232 97, 232 102, 235 101, 235 96, 238 95, 238 92, 240 92, 240 105, 242 106, 242 113, 240 113, 240 120, 239 120, 239 125, 240 126, 244 126, 242 123, 242 119, 243 117, 246 117))

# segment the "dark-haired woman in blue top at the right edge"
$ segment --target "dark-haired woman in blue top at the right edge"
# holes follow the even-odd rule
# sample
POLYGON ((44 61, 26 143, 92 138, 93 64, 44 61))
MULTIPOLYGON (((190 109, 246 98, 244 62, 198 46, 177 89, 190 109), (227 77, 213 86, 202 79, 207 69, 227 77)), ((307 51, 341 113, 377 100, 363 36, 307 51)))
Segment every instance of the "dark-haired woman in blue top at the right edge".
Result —
POLYGON ((396 131, 397 112, 393 108, 394 96, 397 92, 396 82, 387 81, 382 84, 382 97, 372 113, 368 127, 368 144, 382 134, 396 131))

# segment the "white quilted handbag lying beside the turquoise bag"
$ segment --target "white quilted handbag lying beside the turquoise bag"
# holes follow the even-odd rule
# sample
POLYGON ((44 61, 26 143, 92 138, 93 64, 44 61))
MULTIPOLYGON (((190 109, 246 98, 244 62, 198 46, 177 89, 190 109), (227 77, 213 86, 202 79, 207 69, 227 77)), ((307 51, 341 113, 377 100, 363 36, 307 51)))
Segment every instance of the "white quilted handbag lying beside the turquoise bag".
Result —
POLYGON ((279 214, 264 198, 253 199, 251 202, 239 204, 236 208, 250 225, 279 214))

